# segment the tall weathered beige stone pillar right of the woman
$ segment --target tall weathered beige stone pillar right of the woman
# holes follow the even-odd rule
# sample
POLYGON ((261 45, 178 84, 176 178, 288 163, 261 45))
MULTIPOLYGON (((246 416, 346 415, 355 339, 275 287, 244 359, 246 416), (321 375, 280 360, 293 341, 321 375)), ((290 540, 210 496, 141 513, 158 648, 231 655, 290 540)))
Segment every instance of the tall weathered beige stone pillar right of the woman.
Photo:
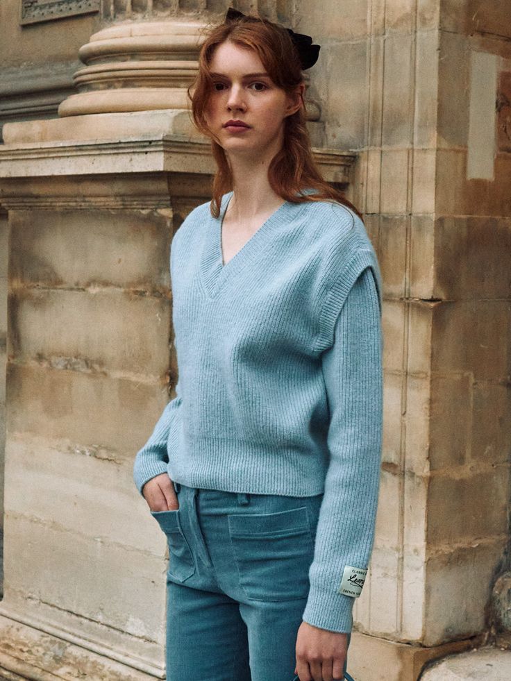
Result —
POLYGON ((298 3, 296 27, 325 53, 325 144, 358 153, 384 283, 380 505, 349 669, 414 681, 488 630, 510 540, 511 24, 476 0, 321 8, 298 3))

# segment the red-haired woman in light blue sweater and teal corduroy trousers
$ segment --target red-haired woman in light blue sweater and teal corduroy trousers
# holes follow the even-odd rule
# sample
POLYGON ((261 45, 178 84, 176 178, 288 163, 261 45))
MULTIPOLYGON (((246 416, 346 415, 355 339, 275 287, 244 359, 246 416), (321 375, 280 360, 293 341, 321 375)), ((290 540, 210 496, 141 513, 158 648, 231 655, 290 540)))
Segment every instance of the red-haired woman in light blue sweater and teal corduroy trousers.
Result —
POLYGON ((169 541, 169 681, 345 671, 378 496, 379 274, 312 160, 311 43, 229 10, 192 88, 218 171, 172 242, 176 398, 134 471, 169 541))

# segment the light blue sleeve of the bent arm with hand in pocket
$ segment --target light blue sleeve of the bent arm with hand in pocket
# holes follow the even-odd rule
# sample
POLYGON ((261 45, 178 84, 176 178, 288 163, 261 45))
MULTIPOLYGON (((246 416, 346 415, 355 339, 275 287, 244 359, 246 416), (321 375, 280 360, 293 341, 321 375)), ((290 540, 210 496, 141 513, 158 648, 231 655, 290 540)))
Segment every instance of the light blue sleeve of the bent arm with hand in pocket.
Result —
POLYGON ((137 452, 133 465, 133 480, 135 480, 135 485, 140 494, 142 494, 142 487, 148 480, 159 476, 160 473, 167 472, 169 462, 167 440, 172 421, 174 421, 180 404, 181 396, 175 397, 167 404, 154 427, 151 437, 137 452))

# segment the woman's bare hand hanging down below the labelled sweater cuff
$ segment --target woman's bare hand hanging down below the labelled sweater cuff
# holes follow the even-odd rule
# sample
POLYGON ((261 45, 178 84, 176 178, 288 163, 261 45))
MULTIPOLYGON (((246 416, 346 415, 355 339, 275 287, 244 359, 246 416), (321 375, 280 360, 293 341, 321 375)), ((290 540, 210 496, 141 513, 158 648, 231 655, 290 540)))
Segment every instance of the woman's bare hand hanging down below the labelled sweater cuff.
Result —
POLYGON ((296 667, 300 681, 336 681, 344 678, 348 635, 302 622, 296 635, 296 667))

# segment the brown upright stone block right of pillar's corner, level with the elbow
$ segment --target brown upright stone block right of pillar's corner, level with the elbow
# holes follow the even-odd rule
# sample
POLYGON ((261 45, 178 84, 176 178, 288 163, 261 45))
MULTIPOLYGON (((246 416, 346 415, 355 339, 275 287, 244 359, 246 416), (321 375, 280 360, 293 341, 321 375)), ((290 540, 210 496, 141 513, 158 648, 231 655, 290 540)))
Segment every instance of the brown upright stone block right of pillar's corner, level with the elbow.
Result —
POLYGON ((473 380, 467 373, 432 376, 430 467, 464 466, 472 432, 473 380))

